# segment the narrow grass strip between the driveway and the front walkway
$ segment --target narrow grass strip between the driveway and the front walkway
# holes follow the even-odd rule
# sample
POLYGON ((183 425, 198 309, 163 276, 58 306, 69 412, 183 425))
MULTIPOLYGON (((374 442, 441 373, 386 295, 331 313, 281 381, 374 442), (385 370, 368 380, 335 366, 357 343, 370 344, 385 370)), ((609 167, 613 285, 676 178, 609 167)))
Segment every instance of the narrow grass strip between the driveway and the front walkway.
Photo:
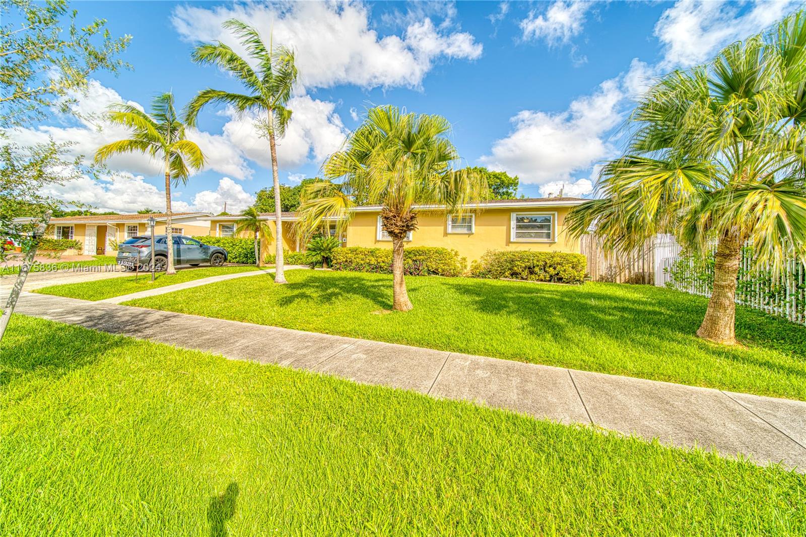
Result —
POLYGON ((254 270, 258 270, 258 268, 251 265, 178 269, 176 274, 170 276, 165 273, 157 273, 154 281, 151 281, 151 273, 140 273, 136 277, 132 275, 107 280, 82 281, 75 284, 50 285, 49 287, 35 289, 33 292, 55 294, 59 297, 83 298, 84 300, 103 300, 104 298, 119 297, 122 294, 174 285, 183 281, 198 280, 199 278, 220 276, 222 274, 247 273, 254 270))

